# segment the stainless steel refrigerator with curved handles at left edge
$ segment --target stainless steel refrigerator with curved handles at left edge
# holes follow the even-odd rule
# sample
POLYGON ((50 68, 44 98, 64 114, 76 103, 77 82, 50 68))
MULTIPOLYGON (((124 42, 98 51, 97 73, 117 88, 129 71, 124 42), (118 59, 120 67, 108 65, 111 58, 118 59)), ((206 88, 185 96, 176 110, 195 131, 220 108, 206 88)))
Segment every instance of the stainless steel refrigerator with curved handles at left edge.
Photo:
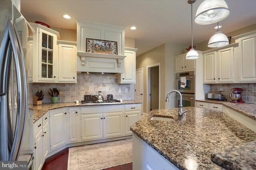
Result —
POLYGON ((0 160, 34 159, 32 45, 34 30, 0 0, 0 160))

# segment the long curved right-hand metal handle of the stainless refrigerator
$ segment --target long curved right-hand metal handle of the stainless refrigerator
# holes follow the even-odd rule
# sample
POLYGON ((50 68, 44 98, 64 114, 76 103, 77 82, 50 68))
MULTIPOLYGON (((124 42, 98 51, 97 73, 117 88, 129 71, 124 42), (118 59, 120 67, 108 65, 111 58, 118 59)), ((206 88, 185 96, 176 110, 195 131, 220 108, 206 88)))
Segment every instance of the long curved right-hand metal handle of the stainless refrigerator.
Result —
POLYGON ((17 117, 16 125, 14 131, 14 140, 12 149, 10 151, 10 160, 18 160, 18 154, 21 147, 22 135, 24 130, 24 121, 26 113, 26 77, 25 77, 25 67, 23 61, 23 53, 21 43, 18 38, 18 33, 15 26, 13 26, 12 21, 8 20, 7 23, 9 37, 12 44, 12 51, 14 56, 14 63, 16 68, 17 77, 17 117))

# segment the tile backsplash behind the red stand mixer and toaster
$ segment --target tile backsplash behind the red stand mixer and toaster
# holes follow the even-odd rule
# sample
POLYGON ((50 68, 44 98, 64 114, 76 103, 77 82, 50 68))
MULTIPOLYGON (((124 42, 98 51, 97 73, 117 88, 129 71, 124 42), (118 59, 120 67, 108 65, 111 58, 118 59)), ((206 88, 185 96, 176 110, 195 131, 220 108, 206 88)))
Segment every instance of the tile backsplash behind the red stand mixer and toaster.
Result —
POLYGON ((256 83, 210 84, 210 93, 220 93, 223 89, 224 98, 230 100, 232 88, 242 88, 242 99, 247 103, 256 103, 256 83))

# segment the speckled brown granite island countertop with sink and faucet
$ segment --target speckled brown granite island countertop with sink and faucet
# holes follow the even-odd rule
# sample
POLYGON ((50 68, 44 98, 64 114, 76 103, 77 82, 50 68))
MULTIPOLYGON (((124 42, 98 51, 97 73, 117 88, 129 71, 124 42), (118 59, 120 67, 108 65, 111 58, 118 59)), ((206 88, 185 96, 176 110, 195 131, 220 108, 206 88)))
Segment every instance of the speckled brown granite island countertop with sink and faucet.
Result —
POLYGON ((212 153, 256 140, 254 131, 223 112, 184 110, 188 110, 184 120, 178 120, 178 108, 152 110, 130 129, 181 170, 222 169, 211 161, 212 153), (171 117, 175 122, 150 120, 152 116, 171 117))

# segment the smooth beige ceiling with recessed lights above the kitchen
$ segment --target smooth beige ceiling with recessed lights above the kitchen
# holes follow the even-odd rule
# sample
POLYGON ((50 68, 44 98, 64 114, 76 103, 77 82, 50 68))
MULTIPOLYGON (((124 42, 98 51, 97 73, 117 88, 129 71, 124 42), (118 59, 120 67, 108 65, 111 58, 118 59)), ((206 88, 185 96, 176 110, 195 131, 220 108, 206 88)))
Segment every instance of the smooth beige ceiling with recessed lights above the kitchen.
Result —
MULTIPOLYGON (((203 0, 193 4, 193 18, 203 0)), ((256 0, 226 0, 230 15, 220 21, 223 33, 256 23, 256 0)), ((163 43, 191 44, 191 6, 187 0, 21 0, 21 13, 30 22, 76 29, 76 19, 126 27, 135 38, 137 56, 163 43), (67 20, 62 16, 70 15, 67 20), (130 27, 135 25, 136 30, 130 27)), ((193 21, 194 44, 210 39, 217 24, 193 21)))

